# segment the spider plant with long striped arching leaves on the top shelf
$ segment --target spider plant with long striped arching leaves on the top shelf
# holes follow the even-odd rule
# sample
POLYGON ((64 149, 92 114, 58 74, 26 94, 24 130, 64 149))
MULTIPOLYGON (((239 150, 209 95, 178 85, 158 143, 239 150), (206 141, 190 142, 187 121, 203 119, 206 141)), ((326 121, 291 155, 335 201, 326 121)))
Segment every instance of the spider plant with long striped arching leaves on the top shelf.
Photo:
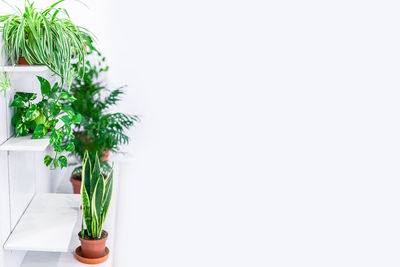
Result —
POLYGON ((61 77, 64 85, 77 75, 72 59, 84 65, 85 45, 91 43, 92 37, 87 29, 72 23, 66 9, 58 7, 62 2, 39 10, 26 0, 22 10, 13 7, 14 14, 0 16, 0 31, 3 49, 13 65, 21 56, 29 64, 44 64, 61 77))

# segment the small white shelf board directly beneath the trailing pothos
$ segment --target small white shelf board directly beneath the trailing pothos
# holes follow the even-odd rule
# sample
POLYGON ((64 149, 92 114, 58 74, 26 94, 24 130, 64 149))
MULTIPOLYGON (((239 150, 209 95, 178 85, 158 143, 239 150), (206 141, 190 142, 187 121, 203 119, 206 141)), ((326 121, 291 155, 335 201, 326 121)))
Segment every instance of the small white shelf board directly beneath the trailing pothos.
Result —
POLYGON ((48 137, 32 139, 32 135, 11 137, 0 145, 0 151, 44 151, 49 146, 48 137))

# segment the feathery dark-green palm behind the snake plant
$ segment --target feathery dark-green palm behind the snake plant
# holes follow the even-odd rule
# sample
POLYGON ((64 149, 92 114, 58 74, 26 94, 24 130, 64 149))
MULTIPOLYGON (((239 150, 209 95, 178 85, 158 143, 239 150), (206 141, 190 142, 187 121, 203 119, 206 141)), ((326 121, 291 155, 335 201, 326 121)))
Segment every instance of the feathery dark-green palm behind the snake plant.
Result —
MULTIPOLYGON (((76 99, 70 106, 75 113, 82 115, 82 122, 73 129, 75 149, 71 154, 78 161, 82 161, 85 151, 88 151, 91 158, 99 155, 101 169, 107 174, 110 169, 108 154, 110 151, 118 152, 120 145, 129 143, 125 131, 138 117, 109 112, 121 100, 124 92, 122 88, 111 92, 107 89, 100 81, 101 74, 108 71, 105 58, 93 47, 88 53, 92 60, 86 61, 83 67, 74 65, 77 72, 83 72, 83 78, 75 80, 70 87, 76 99)), ((75 168, 70 178, 74 193, 80 192, 81 169, 81 166, 75 168)))

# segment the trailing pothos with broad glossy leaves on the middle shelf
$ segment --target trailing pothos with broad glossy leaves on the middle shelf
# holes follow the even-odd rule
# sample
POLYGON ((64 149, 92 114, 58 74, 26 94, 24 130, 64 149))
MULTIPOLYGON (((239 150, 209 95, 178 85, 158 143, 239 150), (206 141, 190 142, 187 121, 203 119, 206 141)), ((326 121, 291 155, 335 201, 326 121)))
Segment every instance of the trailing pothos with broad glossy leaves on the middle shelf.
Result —
POLYGON ((35 93, 17 92, 11 103, 11 107, 14 107, 11 124, 15 136, 32 134, 33 139, 40 139, 50 135, 55 156, 46 155, 44 163, 51 168, 63 168, 67 166, 67 158, 61 154, 74 151, 72 125, 78 125, 82 116, 70 107, 70 103, 76 100, 71 93, 61 89, 58 83, 51 86, 43 77, 37 78, 42 99, 37 102, 35 93))

